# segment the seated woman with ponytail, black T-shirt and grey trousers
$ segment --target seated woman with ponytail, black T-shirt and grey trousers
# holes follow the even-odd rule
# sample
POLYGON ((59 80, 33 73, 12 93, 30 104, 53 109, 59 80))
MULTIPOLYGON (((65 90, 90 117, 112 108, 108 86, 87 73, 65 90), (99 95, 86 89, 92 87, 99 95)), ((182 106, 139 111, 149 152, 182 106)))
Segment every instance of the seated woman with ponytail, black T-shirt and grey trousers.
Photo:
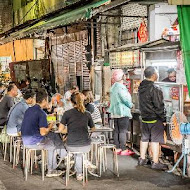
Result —
MULTIPOLYGON (((88 127, 93 131, 94 123, 89 112, 84 107, 84 96, 77 92, 71 95, 73 108, 66 111, 59 125, 61 133, 68 133, 66 147, 70 152, 88 153, 91 140, 88 127)), ((77 154, 75 158, 75 170, 77 180, 82 180, 82 155, 77 154)))

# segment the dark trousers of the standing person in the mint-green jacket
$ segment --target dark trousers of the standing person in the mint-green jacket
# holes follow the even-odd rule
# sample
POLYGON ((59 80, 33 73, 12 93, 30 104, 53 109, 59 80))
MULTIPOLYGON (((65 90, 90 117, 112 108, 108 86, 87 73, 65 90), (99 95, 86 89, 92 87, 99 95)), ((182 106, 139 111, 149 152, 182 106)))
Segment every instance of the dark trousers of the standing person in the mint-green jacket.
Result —
POLYGON ((126 150, 127 130, 129 118, 114 118, 114 144, 117 149, 126 150))

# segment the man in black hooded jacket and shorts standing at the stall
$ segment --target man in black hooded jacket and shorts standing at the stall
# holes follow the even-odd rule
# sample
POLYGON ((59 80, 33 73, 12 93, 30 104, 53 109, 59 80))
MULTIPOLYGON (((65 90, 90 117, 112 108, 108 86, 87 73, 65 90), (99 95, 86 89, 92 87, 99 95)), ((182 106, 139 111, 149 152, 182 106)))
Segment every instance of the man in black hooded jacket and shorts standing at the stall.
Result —
POLYGON ((157 71, 149 66, 144 71, 145 80, 139 86, 139 106, 142 117, 142 137, 139 165, 146 165, 146 152, 151 142, 153 169, 165 170, 167 166, 159 162, 159 144, 164 143, 164 125, 166 122, 162 91, 154 85, 158 79, 157 71))

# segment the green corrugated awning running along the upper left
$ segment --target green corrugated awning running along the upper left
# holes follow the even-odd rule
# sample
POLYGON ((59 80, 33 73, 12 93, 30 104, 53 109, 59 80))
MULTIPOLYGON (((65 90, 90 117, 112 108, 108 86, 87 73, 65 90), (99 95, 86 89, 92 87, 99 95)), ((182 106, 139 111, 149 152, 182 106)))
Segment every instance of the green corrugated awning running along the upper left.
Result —
POLYGON ((96 1, 86 6, 80 7, 78 9, 67 11, 54 18, 40 21, 33 26, 12 33, 10 37, 13 39, 19 39, 23 38, 24 36, 33 34, 34 32, 41 32, 47 29, 53 29, 59 26, 66 26, 72 23, 77 23, 78 21, 87 20, 92 17, 92 10, 94 8, 108 4, 110 2, 110 0, 100 0, 98 2, 96 1))

